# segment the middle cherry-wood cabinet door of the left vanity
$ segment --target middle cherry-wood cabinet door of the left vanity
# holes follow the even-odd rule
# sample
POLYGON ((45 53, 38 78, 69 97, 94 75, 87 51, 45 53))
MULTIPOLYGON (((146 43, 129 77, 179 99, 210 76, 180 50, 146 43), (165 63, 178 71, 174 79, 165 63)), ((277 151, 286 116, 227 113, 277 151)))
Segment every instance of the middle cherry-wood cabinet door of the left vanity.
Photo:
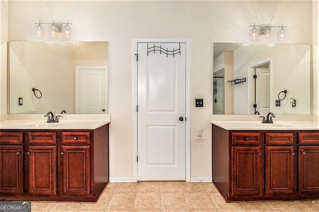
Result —
POLYGON ((29 194, 56 195, 56 146, 29 146, 29 194))

